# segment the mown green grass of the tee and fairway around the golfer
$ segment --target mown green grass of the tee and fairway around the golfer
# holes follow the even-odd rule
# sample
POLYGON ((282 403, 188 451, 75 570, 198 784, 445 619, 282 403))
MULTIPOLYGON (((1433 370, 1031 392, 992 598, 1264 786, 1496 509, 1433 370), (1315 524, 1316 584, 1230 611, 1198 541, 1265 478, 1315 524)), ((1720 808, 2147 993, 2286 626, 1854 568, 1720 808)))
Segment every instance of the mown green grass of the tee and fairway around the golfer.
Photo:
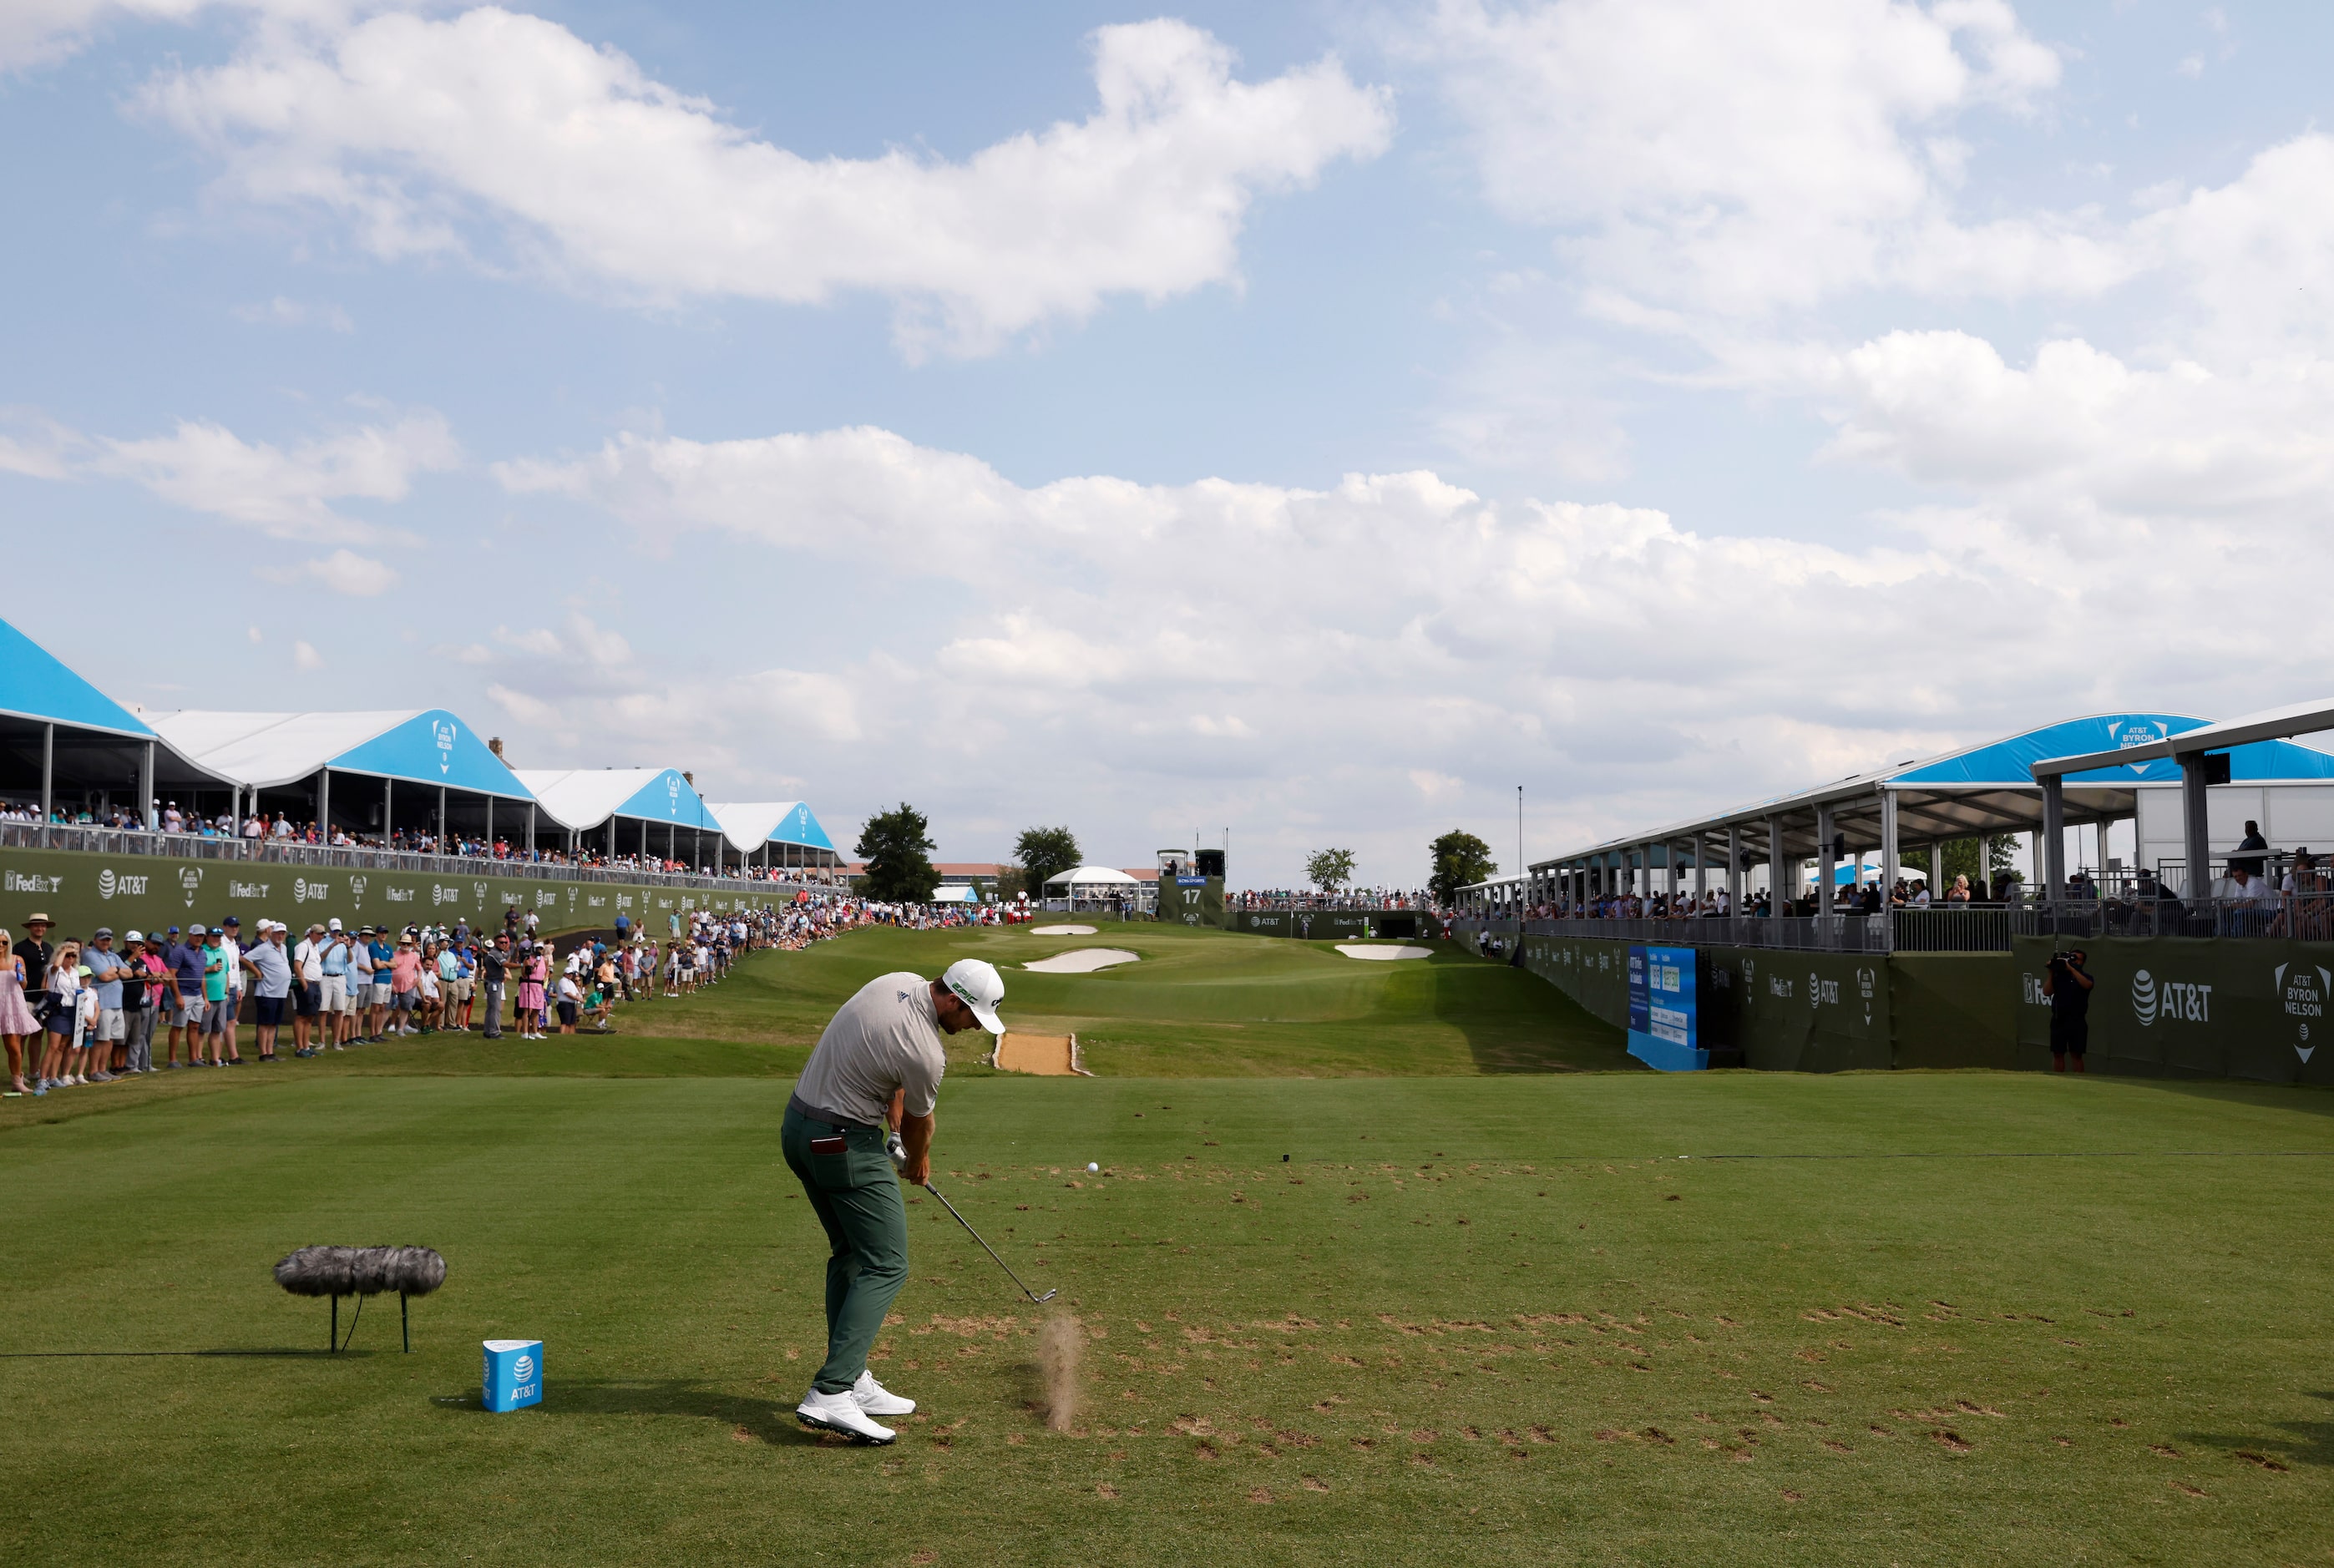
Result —
POLYGON ((943 938, 756 959, 640 1008, 656 1038, 12 1101, 0 1561, 2325 1561, 2334 1099, 1468 1076, 1494 1034, 1610 1043, 1533 1036, 1554 994, 1487 964, 1384 966, 1459 975, 1421 1001, 1167 938, 1008 996, 1193 1066, 1181 957, 1200 1024, 1249 1024, 1188 1038, 1246 1076, 959 1071, 941 1104, 943 1188, 1085 1330, 1069 1433, 1032 1309, 931 1199, 878 1351, 924 1414, 882 1451, 791 1421, 824 1253, 775 1148, 791 1071, 943 938), (1319 1076, 1256 1078, 1267 1031, 1319 1076), (324 1358, 268 1265, 390 1239, 450 1262, 415 1353, 376 1300, 324 1358), (499 1335, 546 1342, 544 1407, 476 1407, 499 1335))

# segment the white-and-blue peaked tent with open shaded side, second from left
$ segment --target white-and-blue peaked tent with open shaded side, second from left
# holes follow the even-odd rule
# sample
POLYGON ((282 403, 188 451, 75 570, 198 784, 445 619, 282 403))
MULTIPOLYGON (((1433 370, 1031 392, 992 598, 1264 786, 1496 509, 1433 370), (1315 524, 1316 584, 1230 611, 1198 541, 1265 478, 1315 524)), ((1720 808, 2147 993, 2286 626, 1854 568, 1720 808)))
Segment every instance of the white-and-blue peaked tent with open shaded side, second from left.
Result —
POLYGON ((534 796, 464 719, 443 707, 357 714, 184 709, 156 716, 154 730, 226 786, 238 821, 285 814, 364 842, 422 835, 530 842, 534 796))

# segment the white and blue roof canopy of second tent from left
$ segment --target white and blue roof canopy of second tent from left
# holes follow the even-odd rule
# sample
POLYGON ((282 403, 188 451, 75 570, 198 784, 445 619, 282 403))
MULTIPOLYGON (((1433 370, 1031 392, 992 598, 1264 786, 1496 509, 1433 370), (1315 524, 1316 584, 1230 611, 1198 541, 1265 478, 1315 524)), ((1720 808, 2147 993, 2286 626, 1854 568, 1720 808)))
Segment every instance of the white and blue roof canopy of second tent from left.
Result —
POLYGON ((399 784, 532 800, 478 733, 443 707, 371 714, 224 714, 187 709, 154 730, 196 768, 247 789, 313 779, 327 768, 399 784))

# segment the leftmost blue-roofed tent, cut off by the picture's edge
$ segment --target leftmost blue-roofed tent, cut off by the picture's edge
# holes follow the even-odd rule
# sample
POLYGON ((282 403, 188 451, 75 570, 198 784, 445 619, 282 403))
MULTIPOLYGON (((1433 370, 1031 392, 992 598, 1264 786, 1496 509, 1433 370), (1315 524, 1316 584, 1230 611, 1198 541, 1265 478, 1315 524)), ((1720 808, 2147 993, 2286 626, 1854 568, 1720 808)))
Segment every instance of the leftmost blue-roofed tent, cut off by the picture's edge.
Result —
POLYGON ((0 621, 0 800, 51 810, 145 814, 156 768, 191 784, 194 770, 156 754, 154 730, 54 653, 0 621))

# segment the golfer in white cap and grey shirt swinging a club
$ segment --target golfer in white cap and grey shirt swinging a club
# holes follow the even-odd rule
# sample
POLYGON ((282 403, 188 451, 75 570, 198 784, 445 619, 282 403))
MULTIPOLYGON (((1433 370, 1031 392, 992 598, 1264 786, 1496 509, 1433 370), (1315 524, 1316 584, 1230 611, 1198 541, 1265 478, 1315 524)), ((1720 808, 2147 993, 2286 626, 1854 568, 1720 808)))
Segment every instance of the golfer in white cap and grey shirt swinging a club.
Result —
POLYGON ((906 1416, 915 1400, 868 1372, 868 1349, 892 1297, 908 1283, 908 1209, 901 1178, 931 1176, 931 1127, 948 1071, 943 1034, 980 1024, 1004 1034, 994 964, 957 959, 938 980, 878 975, 843 1003, 787 1101, 780 1146, 826 1227, 826 1365, 794 1407, 796 1421, 852 1442, 892 1442, 873 1416, 906 1416), (906 1162, 894 1174, 885 1132, 906 1162))

